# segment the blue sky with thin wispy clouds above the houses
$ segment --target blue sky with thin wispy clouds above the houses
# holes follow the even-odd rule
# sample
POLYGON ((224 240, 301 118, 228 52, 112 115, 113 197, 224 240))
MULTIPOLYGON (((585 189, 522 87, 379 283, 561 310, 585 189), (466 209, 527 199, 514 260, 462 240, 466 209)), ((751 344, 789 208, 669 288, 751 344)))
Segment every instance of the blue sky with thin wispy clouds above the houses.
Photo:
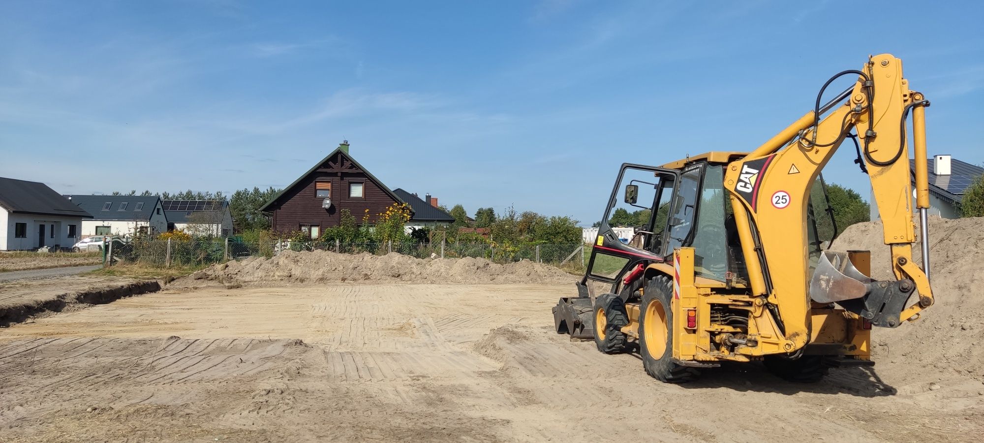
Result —
MULTIPOLYGON (((282 187, 347 139, 392 188, 589 224, 623 161, 754 149, 882 52, 933 103, 930 154, 979 164, 982 9, 5 1, 0 176, 74 194, 282 187)), ((825 174, 867 197, 852 152, 825 174)))

